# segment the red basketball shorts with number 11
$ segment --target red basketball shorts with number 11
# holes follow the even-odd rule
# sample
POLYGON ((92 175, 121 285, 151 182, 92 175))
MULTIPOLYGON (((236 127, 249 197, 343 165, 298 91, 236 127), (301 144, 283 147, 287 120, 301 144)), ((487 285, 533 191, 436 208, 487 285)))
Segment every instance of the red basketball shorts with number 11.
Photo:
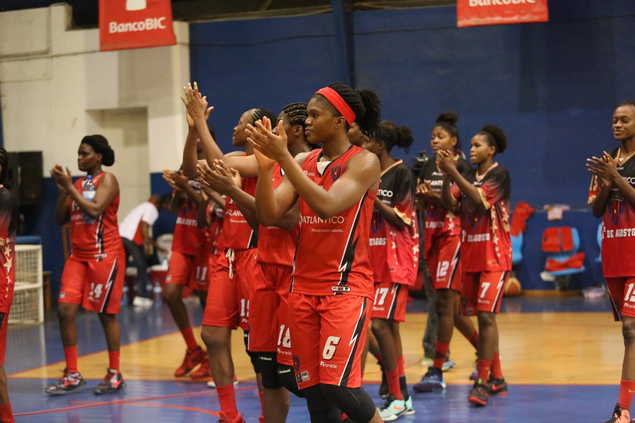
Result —
POLYGON ((210 286, 210 256, 208 254, 183 254, 173 251, 168 264, 165 283, 185 285, 191 289, 206 291, 210 286))

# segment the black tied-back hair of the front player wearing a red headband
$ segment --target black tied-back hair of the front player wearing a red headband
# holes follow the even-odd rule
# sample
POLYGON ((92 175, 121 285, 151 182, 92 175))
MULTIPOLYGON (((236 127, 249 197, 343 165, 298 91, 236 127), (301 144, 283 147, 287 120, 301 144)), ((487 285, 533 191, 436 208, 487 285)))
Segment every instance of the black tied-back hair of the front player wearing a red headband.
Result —
MULTIPOLYGON (((335 90, 340 94, 342 100, 352 109, 355 114, 355 122, 358 122, 359 130, 368 138, 373 138, 377 132, 380 120, 380 105, 379 96, 372 88, 351 88, 344 84, 344 82, 334 82, 330 84, 328 88, 335 90)), ((324 98, 321 94, 315 94, 324 98)), ((324 98, 326 100, 326 98, 324 98)), ((335 116, 341 116, 330 101, 326 100, 328 105, 334 110, 335 116)), ((348 122, 345 126, 346 130, 350 129, 348 122)))

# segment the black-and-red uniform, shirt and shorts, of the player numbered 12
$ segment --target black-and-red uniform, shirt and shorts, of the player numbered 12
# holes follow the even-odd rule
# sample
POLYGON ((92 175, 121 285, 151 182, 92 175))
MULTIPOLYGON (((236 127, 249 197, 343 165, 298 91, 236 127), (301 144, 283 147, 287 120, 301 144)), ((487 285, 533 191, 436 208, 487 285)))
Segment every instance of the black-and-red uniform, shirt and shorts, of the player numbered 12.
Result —
MULTIPOLYGON (((455 156, 460 173, 471 168, 469 163, 455 156)), ((424 179, 431 181, 434 192, 440 194, 443 173, 434 160, 424 167, 424 179)), ((454 212, 446 210, 438 200, 427 200, 425 207, 424 258, 432 277, 434 289, 461 290, 461 224, 454 212)))

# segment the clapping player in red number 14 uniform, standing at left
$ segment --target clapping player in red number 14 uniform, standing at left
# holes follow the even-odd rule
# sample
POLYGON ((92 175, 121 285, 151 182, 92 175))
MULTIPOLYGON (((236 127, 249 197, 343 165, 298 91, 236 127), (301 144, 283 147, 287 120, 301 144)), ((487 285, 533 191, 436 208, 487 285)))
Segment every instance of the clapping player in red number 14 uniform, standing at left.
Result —
POLYGON ((51 169, 51 177, 60 188, 55 220, 58 225, 70 221, 72 244, 58 299, 66 368, 57 384, 46 388, 46 393, 52 395, 65 394, 86 384, 77 370, 75 315, 80 304, 98 313, 110 358, 104 381, 93 391, 108 394, 126 386, 119 372, 121 336, 117 322, 126 268, 117 226, 119 183, 112 173, 102 171, 102 165, 114 164, 115 154, 101 135, 84 136, 77 154, 77 166, 86 176, 76 183, 72 183, 68 168, 64 171, 62 166, 55 165, 51 169))

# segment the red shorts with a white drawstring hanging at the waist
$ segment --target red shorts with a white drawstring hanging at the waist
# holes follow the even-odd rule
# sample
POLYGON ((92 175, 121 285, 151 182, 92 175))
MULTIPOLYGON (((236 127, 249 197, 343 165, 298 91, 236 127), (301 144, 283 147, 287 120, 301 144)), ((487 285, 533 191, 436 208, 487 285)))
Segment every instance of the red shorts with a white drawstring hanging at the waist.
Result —
POLYGON ((257 248, 241 252, 227 249, 220 254, 218 268, 211 275, 203 325, 249 330, 249 296, 257 254, 257 248))

